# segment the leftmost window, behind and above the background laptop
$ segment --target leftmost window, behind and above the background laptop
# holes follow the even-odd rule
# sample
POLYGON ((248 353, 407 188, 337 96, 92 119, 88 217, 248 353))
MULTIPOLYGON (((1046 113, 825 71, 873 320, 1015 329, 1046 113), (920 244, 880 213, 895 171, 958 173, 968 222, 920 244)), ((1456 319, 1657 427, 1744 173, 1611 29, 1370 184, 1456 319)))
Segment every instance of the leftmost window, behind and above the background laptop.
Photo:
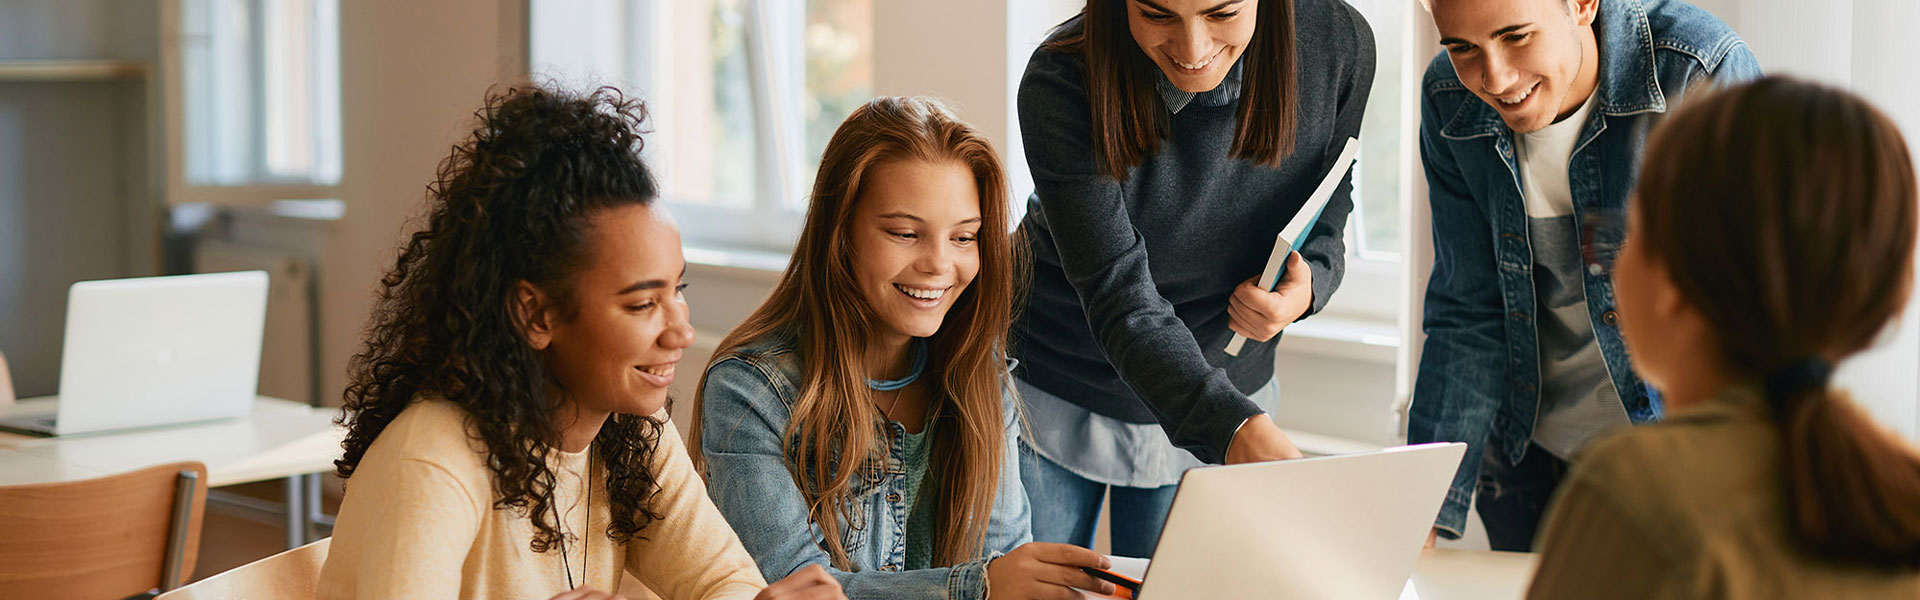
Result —
MULTIPOLYGON (((340 8, 336 0, 179 0, 167 46, 169 183, 204 188, 340 183, 340 8)), ((180 198, 175 196, 175 198, 180 198)), ((255 196, 255 194, 244 194, 255 196)), ((267 198, 257 198, 267 200, 267 198)))

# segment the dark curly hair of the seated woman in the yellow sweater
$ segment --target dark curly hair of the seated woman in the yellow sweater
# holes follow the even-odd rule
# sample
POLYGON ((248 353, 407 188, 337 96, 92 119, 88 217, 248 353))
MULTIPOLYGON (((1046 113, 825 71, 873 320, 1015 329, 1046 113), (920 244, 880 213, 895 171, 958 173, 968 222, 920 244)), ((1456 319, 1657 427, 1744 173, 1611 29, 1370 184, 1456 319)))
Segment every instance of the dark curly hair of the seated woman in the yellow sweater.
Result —
MULTIPOLYGON (((490 94, 480 127, 453 146, 428 187, 426 227, 380 279, 367 344, 349 363, 346 456, 353 477, 367 448, 415 398, 440 396, 467 412, 486 442, 493 508, 534 521, 534 552, 561 540, 553 523, 549 448, 564 392, 522 337, 511 290, 528 281, 563 313, 584 267, 589 219, 607 208, 649 204, 657 185, 641 162, 647 108, 616 88, 572 94, 543 87, 490 94)), ((607 467, 612 523, 630 540, 653 519, 659 481, 649 469, 662 423, 614 413, 593 438, 607 467)), ((589 479, 591 481, 591 479, 589 479)))

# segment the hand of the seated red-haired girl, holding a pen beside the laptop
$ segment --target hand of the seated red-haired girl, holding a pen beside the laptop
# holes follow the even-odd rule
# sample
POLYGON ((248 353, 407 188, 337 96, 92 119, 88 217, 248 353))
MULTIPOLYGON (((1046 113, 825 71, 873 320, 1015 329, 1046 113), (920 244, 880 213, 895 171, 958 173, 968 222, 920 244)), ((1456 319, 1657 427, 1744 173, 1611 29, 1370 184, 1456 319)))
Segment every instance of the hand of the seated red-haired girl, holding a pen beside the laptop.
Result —
POLYGON ((1081 567, 1108 569, 1112 563, 1098 552, 1073 544, 1025 542, 1014 552, 987 563, 987 598, 991 600, 1079 600, 1089 592, 1114 594, 1114 585, 1081 567))

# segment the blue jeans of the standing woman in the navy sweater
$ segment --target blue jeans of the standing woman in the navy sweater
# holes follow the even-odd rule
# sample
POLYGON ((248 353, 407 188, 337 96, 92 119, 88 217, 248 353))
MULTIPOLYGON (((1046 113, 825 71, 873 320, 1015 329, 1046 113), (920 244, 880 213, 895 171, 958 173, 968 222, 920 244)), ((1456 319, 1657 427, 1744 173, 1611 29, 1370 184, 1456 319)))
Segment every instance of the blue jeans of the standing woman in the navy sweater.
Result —
POLYGON ((1160 527, 1173 508, 1179 485, 1156 488, 1110 487, 1089 481, 1020 444, 1020 481, 1033 512, 1033 540, 1092 548, 1092 527, 1100 521, 1100 498, 1112 506, 1110 535, 1114 556, 1154 558, 1160 527))

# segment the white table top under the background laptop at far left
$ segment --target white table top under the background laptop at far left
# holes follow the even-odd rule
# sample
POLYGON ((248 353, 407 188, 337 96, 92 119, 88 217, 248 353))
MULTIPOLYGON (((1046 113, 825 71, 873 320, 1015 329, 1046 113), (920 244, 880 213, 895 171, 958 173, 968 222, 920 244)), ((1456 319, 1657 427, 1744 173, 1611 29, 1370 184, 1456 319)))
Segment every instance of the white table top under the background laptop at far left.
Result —
MULTIPOLYGON (((0 415, 50 402, 21 400, 0 415)), ((73 437, 0 433, 0 485, 77 481, 182 460, 205 463, 209 487, 330 471, 344 437, 332 419, 334 410, 259 396, 238 419, 73 437)))

